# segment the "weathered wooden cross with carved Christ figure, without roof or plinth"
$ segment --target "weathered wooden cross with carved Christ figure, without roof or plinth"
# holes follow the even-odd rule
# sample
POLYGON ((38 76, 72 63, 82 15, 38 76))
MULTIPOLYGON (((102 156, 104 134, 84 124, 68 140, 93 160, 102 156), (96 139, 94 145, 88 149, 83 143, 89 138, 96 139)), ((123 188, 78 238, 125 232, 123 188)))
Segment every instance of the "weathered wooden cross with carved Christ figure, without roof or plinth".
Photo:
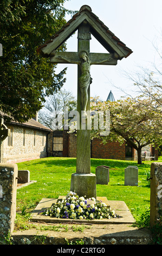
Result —
MULTIPOLYGON (((113 53, 90 53, 90 27, 86 21, 78 28, 78 52, 51 52, 50 62, 78 65, 77 75, 77 111, 87 119, 86 111, 90 110, 90 65, 116 65, 118 58, 113 53)), ((116 56, 118 56, 116 54, 116 56)), ((89 113, 89 112, 88 112, 89 113)), ((76 173, 90 174, 90 130, 77 130, 76 173)))

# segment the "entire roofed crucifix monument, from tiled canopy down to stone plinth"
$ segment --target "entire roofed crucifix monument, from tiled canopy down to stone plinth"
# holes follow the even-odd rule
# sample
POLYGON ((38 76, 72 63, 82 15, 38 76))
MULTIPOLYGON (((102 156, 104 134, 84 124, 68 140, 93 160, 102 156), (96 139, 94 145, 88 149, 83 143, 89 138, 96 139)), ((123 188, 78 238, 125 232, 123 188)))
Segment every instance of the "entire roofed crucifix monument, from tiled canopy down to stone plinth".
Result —
MULTIPOLYGON (((70 190, 79 196, 96 198, 96 175, 90 172, 90 65, 116 65, 127 58, 132 50, 83 5, 71 20, 38 47, 37 52, 49 57, 51 63, 77 64, 77 143, 76 173, 72 174, 70 190), (77 52, 56 51, 76 31, 77 52), (108 53, 90 53, 91 34, 108 53)), ((97 75, 97 74, 96 74, 97 75)), ((100 85, 99 85, 100 86, 100 85)), ((68 129, 68 128, 67 128, 68 129)))

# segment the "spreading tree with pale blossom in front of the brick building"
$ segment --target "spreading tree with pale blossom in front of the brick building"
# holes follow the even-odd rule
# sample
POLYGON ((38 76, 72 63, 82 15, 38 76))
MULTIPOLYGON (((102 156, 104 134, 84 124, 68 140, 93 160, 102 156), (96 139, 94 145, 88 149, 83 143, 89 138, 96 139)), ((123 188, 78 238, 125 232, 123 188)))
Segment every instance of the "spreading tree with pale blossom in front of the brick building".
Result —
MULTIPOLYGON (((99 130, 92 130, 92 138, 102 138, 118 141, 137 150, 138 164, 141 164, 141 150, 148 144, 158 145, 161 142, 161 127, 157 125, 161 121, 159 112, 153 109, 153 99, 146 99, 142 96, 136 99, 127 97, 118 101, 91 103, 92 111, 110 111, 110 133, 108 136, 100 136, 99 130)), ((92 126, 93 128, 93 126, 92 126)))

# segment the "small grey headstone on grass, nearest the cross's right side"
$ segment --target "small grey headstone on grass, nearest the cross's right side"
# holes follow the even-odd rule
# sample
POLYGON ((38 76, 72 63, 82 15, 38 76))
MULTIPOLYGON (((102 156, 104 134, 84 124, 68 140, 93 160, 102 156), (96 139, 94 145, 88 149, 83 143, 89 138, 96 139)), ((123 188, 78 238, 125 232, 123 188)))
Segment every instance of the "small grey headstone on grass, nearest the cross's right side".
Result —
POLYGON ((108 185, 109 182, 109 167, 98 166, 95 169, 96 184, 108 185))

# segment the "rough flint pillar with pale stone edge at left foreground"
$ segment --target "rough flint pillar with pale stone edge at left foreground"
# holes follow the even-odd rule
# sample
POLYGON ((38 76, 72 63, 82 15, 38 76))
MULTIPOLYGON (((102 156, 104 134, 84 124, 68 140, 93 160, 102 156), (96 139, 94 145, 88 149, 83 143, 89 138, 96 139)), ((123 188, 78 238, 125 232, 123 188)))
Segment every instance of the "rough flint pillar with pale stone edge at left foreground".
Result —
POLYGON ((0 236, 14 230, 16 217, 17 164, 0 163, 0 236))

